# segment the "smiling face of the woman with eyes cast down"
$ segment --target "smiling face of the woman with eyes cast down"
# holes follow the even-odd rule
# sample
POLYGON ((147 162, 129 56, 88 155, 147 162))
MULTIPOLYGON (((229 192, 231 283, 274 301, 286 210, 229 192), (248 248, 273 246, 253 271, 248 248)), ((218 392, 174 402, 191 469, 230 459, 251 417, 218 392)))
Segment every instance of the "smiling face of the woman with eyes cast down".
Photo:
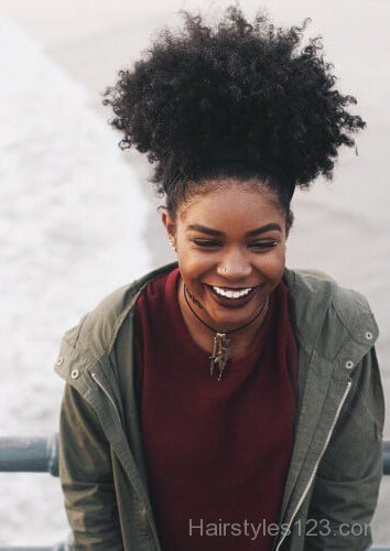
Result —
POLYGON ((175 219, 166 210, 162 218, 192 306, 204 322, 228 332, 250 322, 281 281, 286 214, 258 182, 208 185, 208 193, 180 205, 175 219))

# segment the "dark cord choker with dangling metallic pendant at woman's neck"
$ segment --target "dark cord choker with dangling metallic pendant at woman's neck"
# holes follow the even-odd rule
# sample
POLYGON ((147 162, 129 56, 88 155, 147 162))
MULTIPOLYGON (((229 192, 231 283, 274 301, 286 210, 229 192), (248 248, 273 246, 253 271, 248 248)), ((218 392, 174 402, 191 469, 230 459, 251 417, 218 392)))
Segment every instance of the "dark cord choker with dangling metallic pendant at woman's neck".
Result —
POLYGON ((230 339, 227 338, 227 335, 231 335, 232 333, 238 333, 239 331, 245 329, 246 327, 249 327, 264 311, 267 304, 268 304, 268 296, 263 300, 261 307, 259 312, 256 314, 256 316, 250 320, 248 323, 242 325, 241 327, 237 327, 237 329, 231 329, 226 333, 220 333, 219 331, 215 329, 208 323, 204 322, 201 316, 197 315, 195 310, 193 310, 192 305, 189 304, 188 296, 187 294, 191 295, 186 284, 184 283, 184 299, 185 302, 187 303, 188 309, 191 312, 194 314, 196 320, 198 320, 203 325, 205 325, 209 331, 215 333, 214 335, 214 346, 213 346, 213 354, 209 356, 210 359, 210 376, 213 377, 214 375, 214 369, 216 366, 218 366, 218 381, 220 381, 225 367, 228 363, 229 359, 229 344, 230 339))

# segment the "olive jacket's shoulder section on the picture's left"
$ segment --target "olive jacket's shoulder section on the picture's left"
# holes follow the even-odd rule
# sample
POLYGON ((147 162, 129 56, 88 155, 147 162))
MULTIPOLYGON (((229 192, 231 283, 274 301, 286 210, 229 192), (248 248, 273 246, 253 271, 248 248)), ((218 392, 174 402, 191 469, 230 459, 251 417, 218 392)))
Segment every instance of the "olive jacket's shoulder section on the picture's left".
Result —
POLYGON ((62 348, 67 347, 84 353, 89 363, 109 353, 121 327, 131 317, 142 290, 150 281, 176 266, 176 263, 163 266, 108 294, 94 310, 82 317, 78 325, 65 333, 62 348))

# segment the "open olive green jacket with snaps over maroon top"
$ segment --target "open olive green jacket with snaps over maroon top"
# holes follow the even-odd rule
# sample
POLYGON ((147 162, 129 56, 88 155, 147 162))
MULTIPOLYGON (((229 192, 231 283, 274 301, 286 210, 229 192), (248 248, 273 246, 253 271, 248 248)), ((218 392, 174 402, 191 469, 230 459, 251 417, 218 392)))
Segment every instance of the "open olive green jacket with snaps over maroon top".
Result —
MULTIPOLYGON (((116 374, 134 374, 139 293, 174 266, 113 292, 63 338, 55 367, 66 381, 59 474, 75 549, 161 549, 134 387, 124 404, 116 374)), ((274 550, 362 550, 371 543, 369 523, 382 473, 384 407, 373 348, 378 327, 360 294, 321 274, 285 270, 284 277, 299 381, 295 440, 274 550)))

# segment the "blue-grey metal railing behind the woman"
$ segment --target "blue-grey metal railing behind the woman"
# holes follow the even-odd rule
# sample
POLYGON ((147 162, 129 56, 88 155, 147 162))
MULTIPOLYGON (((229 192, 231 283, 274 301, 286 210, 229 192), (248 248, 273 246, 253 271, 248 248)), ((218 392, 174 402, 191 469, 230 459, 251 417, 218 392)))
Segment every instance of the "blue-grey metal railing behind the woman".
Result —
MULTIPOLYGON (((58 476, 58 434, 44 437, 0 437, 0 473, 50 473, 58 476)), ((383 444, 383 474, 390 475, 390 441, 383 444)), ((66 543, 52 547, 0 547, 0 551, 67 551, 66 543)), ((369 551, 390 551, 373 545, 369 551)))

